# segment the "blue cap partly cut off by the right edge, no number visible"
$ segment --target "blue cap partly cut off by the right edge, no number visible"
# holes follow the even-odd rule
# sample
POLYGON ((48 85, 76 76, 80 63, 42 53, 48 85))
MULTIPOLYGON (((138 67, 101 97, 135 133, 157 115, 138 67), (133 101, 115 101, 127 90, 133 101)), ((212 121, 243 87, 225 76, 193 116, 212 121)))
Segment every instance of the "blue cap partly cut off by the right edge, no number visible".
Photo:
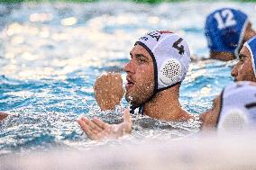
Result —
POLYGON ((243 46, 246 46, 249 49, 251 54, 251 64, 254 72, 254 76, 256 77, 256 36, 252 37, 250 40, 247 40, 243 46))

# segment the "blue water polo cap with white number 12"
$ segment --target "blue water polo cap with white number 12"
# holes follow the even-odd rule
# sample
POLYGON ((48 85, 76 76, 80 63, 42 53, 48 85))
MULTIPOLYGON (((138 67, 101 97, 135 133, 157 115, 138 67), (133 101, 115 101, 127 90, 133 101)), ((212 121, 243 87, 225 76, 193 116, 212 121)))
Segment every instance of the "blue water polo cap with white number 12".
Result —
POLYGON ((210 13, 205 25, 208 48, 237 55, 247 23, 248 16, 233 8, 222 8, 210 13))

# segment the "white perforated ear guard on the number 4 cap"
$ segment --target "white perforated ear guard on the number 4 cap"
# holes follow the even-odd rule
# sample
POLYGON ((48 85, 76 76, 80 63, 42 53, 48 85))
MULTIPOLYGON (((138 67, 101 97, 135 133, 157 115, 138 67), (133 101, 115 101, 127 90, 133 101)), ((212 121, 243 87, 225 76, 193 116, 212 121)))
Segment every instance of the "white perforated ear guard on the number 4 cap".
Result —
POLYGON ((178 59, 166 59, 160 67, 159 84, 163 86, 176 84, 181 71, 182 67, 178 59))

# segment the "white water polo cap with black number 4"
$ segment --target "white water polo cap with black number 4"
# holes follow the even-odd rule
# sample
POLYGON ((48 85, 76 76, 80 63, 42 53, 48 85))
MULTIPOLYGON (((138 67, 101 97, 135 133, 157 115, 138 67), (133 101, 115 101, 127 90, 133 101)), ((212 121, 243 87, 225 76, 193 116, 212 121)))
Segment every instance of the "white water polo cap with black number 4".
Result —
POLYGON ((150 54, 154 64, 154 93, 182 82, 187 74, 190 52, 187 41, 171 31, 151 31, 136 41, 150 54))

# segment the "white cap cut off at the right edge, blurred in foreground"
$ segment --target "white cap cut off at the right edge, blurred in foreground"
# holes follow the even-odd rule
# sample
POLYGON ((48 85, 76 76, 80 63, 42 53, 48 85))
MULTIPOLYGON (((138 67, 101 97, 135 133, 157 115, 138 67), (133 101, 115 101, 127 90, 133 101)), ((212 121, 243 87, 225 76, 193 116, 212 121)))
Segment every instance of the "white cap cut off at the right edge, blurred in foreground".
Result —
POLYGON ((218 130, 244 130, 256 125, 256 84, 238 82, 221 94, 218 130))

